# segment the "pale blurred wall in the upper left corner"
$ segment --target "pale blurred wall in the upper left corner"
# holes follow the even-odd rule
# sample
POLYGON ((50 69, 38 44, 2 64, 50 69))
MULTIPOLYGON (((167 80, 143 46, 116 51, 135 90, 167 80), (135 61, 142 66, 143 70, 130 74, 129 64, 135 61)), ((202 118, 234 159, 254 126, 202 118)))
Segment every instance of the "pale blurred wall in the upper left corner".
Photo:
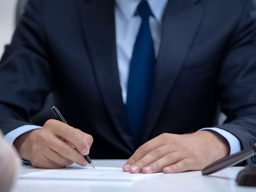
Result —
POLYGON ((17 0, 0 0, 0 57, 14 31, 16 2, 17 0))

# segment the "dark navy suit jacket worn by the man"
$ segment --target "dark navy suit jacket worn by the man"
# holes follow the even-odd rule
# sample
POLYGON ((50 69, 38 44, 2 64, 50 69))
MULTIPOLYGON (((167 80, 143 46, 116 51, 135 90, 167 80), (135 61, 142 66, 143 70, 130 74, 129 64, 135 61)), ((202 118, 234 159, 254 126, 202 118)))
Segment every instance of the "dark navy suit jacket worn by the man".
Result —
MULTIPOLYGON (((204 127, 256 142, 255 0, 170 0, 141 143, 204 127), (217 126, 219 112, 227 115, 217 126)), ((53 91, 91 158, 133 145, 118 77, 113 0, 30 0, 0 63, 0 127, 29 123, 53 91)), ((49 109, 50 110, 50 109, 49 109)), ((248 159, 249 164, 255 164, 248 159)))

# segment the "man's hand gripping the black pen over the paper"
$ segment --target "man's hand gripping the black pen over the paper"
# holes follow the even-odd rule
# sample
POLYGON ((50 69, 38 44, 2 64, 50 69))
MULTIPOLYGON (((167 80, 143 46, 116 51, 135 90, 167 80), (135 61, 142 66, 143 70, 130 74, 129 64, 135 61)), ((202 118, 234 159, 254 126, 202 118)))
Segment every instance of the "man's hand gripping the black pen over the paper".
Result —
POLYGON ((20 157, 31 161, 34 167, 63 168, 73 162, 81 166, 88 163, 93 137, 61 121, 48 120, 42 129, 35 129, 14 141, 20 157), (75 147, 75 148, 74 148, 75 147))

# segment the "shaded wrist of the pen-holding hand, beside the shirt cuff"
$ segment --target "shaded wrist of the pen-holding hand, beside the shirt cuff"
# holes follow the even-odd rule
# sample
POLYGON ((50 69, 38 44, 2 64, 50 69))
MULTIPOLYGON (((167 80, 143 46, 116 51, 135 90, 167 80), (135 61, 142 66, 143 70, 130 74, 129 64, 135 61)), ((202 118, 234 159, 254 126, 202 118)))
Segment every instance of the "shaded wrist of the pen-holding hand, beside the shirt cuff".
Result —
POLYGON ((22 159, 30 161, 32 146, 39 131, 41 129, 28 131, 14 140, 13 144, 22 159))

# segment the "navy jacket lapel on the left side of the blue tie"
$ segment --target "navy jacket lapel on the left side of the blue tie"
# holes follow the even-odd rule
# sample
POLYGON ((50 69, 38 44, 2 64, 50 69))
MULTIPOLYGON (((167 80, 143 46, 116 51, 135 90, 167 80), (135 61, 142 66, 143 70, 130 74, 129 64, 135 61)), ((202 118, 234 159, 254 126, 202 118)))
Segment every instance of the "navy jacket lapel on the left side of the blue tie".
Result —
POLYGON ((117 67, 114 2, 82 2, 78 16, 98 88, 120 137, 132 150, 117 67))

